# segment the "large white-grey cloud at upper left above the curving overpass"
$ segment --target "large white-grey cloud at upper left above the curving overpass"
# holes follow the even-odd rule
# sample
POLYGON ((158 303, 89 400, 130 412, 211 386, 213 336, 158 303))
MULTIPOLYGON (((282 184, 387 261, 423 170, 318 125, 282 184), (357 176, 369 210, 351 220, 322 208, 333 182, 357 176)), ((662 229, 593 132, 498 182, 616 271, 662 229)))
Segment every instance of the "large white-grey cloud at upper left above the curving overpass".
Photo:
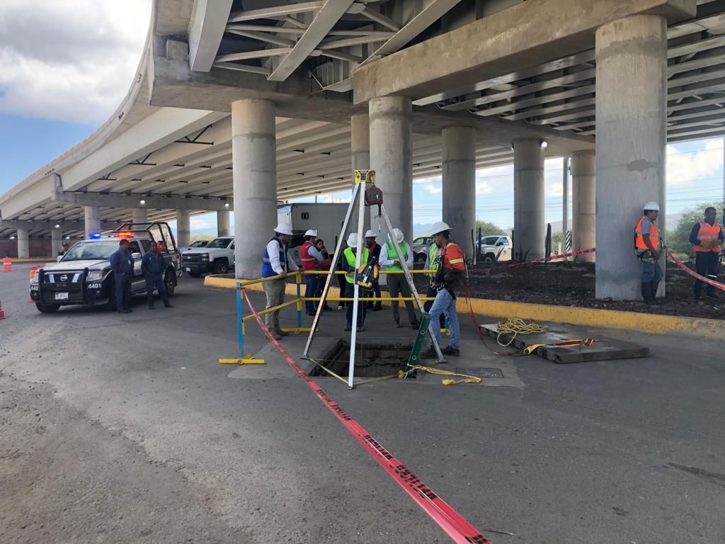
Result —
POLYGON ((151 0, 0 2, 0 113, 100 124, 125 96, 151 0))

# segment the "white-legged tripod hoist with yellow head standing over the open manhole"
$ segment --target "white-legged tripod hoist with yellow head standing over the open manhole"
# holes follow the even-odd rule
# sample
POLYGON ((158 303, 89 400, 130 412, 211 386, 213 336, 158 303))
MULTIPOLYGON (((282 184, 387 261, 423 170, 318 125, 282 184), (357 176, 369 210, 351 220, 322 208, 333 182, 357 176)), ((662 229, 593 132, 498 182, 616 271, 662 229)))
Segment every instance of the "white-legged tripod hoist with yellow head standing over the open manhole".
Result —
MULTIPOLYGON (((332 259, 333 263, 339 262, 339 258, 342 253, 342 241, 344 240, 344 236, 347 233, 347 227, 349 225, 350 218, 352 217, 352 211, 355 210, 355 207, 357 205, 358 236, 357 249, 355 252, 356 273, 352 302, 352 331, 350 331, 350 360, 349 371, 347 375, 348 389, 352 389, 353 387, 355 387, 354 379, 356 347, 355 342, 357 340, 357 308, 361 303, 365 303, 360 302, 360 289, 371 289, 373 287, 373 282, 378 277, 378 263, 375 263, 372 257, 370 259, 370 262, 360 263, 360 255, 363 254, 364 242, 362 233, 365 224, 365 208, 371 206, 378 207, 378 231, 380 224, 379 221, 382 219, 385 222, 386 228, 388 229, 388 239, 395 247, 397 255, 402 255, 400 245, 398 244, 394 236, 391 236, 393 226, 390 223, 390 218, 385 210, 385 205, 383 204, 383 191, 381 191, 381 189, 376 186, 375 177, 375 170, 355 170, 355 186, 352 189, 352 197, 350 198, 350 204, 347 207, 347 213, 345 214, 345 219, 342 223, 340 236, 338 236, 337 244, 335 245, 335 255, 332 259)), ((438 356, 437 362, 442 363, 444 361, 444 358, 443 354, 441 353, 441 347, 438 345, 438 342, 436 341, 436 335, 431 328, 433 326, 431 325, 431 318, 423 310, 423 302, 421 302, 421 297, 418 295, 418 291, 415 290, 415 284, 413 284, 413 276, 411 276, 410 270, 408 270, 407 268, 407 263, 405 263, 405 259, 400 259, 399 263, 403 270, 403 274, 405 275, 405 281, 407 281, 408 286, 410 286, 410 293, 413 298, 415 298, 418 309, 421 310, 421 327, 420 329, 418 329, 418 334, 415 337, 413 350, 411 351, 410 358, 408 359, 408 365, 414 366, 418 364, 418 354, 421 352, 421 347, 423 347, 423 341, 425 340, 426 333, 431 335, 431 345, 434 346, 434 349, 436 350, 436 355, 438 356)), ((312 340, 315 339, 315 331, 317 331, 320 316, 322 315, 322 308, 325 305, 325 301, 327 300, 328 292, 330 290, 330 284, 332 282, 334 273, 335 267, 331 266, 326 277, 325 288, 323 289, 322 297, 320 297, 317 312, 315 313, 315 319, 312 320, 312 328, 310 329, 310 335, 307 337, 305 351, 304 353, 302 353, 302 358, 304 359, 310 359, 310 347, 312 346, 312 340)), ((435 323, 435 325, 437 326, 438 323, 435 323)))

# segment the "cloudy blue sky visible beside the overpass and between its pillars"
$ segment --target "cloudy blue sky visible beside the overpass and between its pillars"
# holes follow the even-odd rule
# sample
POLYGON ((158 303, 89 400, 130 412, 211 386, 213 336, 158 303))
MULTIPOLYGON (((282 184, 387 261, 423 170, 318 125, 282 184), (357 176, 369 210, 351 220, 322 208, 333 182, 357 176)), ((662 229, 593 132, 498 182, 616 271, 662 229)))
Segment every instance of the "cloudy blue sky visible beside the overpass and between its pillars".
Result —
MULTIPOLYGON (((27 0, 0 1, 0 194, 107 120, 128 91, 146 40, 150 0, 42 4, 28 9, 27 0)), ((562 160, 547 159, 544 168, 546 221, 560 222, 562 160)), ((441 219, 441 185, 440 176, 413 182, 416 234, 441 219)), ((722 194, 722 139, 668 145, 668 214, 722 194)), ((348 200, 349 191, 318 196, 318 202, 348 200)), ((513 226, 513 165, 476 173, 476 218, 513 226)), ((215 227, 215 214, 191 219, 192 234, 215 227)))

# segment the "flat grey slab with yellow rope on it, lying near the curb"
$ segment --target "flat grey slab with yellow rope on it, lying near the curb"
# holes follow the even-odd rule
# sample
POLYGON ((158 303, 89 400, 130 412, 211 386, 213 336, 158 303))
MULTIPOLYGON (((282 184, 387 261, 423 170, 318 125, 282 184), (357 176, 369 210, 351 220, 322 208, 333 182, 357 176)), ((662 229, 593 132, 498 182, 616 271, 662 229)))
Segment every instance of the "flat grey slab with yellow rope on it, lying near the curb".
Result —
MULTIPOLYGON (((498 324, 481 325, 481 331, 492 338, 498 338, 498 324)), ((647 357, 650 353, 648 347, 625 342, 624 340, 613 340, 597 335, 593 345, 585 346, 555 346, 558 342, 573 339, 585 339, 592 337, 591 334, 585 333, 566 325, 553 325, 551 329, 547 329, 544 333, 539 334, 512 334, 503 333, 500 336, 501 341, 506 344, 510 342, 510 347, 517 350, 523 350, 526 347, 535 344, 543 344, 537 347, 534 354, 540 357, 552 360, 554 363, 584 363, 595 360, 615 360, 647 357), (512 339, 513 338, 513 339, 512 339)))

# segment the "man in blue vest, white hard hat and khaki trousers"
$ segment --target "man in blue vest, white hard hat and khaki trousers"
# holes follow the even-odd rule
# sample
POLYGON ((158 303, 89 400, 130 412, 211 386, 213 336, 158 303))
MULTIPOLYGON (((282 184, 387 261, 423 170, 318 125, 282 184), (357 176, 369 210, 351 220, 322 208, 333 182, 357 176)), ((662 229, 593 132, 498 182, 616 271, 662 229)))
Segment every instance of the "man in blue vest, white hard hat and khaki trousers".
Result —
MULTIPOLYGON (((289 271, 297 271, 297 264, 287 255, 287 244, 292 239, 292 229, 287 223, 279 223, 274 229, 274 236, 267 242, 265 247, 265 255, 262 258, 262 278, 271 278, 273 276, 281 276, 279 279, 262 282, 262 289, 267 295, 267 306, 281 305, 284 302, 284 289, 287 281, 286 276, 289 271)), ((270 329, 272 337, 281 340, 287 336, 279 326, 279 310, 265 313, 265 325, 270 329)))

